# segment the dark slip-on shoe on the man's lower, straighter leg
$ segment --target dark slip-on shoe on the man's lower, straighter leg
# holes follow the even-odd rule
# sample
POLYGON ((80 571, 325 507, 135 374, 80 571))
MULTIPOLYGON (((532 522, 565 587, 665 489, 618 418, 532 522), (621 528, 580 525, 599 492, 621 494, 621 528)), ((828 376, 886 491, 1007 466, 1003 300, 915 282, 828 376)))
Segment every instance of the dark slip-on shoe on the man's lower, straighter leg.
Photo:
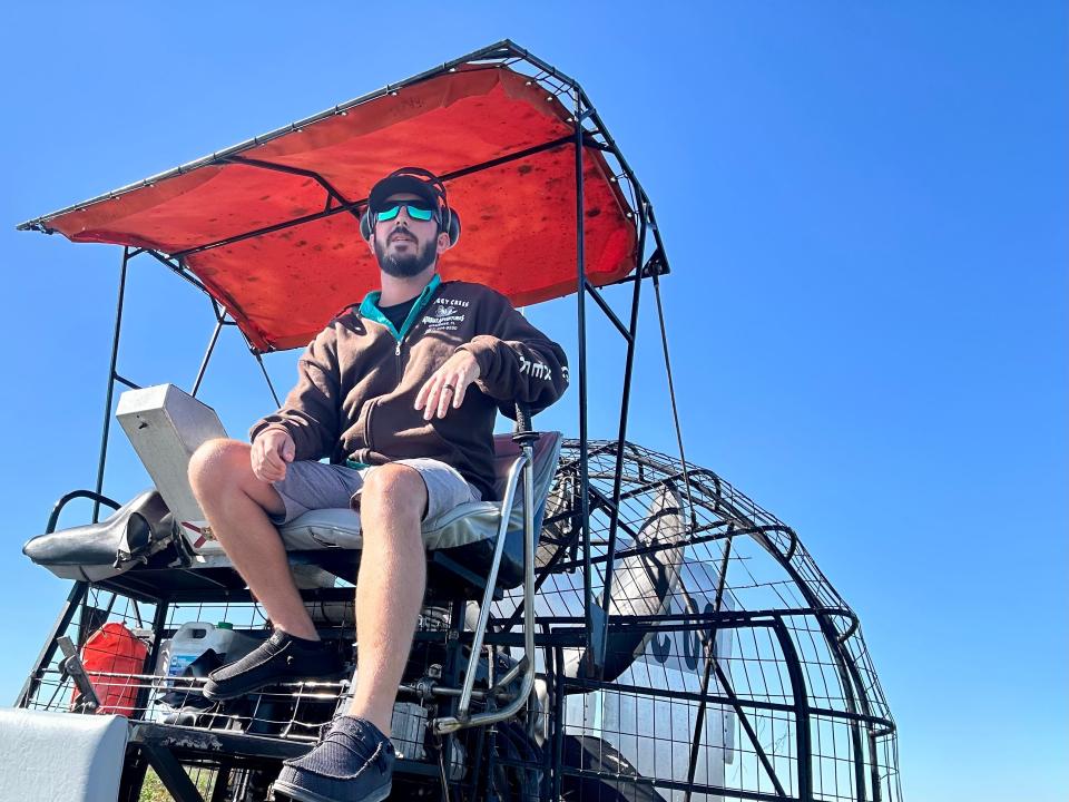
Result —
POLYGON ((311 752, 283 763, 275 799, 296 802, 381 802, 393 786, 396 755, 369 721, 339 716, 311 752))

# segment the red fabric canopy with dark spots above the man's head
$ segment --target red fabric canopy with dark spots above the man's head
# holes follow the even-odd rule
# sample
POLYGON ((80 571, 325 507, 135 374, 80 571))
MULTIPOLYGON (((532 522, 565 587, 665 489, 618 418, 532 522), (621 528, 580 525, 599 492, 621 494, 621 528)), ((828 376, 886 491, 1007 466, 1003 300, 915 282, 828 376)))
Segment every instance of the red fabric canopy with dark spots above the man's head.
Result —
MULTIPOLYGON (((379 284, 344 203, 366 198, 396 167, 420 166, 455 174, 447 188, 463 233, 441 260, 442 277, 480 282, 527 305, 576 290, 570 117, 541 84, 507 66, 443 68, 33 225, 72 242, 179 256, 257 350, 287 349, 379 284), (560 144, 545 147, 551 143, 560 144), (483 166, 529 149, 537 151, 483 166), (331 206, 318 179, 335 190, 331 206), (218 244, 252 232, 261 233, 218 244)), ((611 175, 597 147, 583 148, 586 271, 595 285, 637 262, 634 218, 611 175)))

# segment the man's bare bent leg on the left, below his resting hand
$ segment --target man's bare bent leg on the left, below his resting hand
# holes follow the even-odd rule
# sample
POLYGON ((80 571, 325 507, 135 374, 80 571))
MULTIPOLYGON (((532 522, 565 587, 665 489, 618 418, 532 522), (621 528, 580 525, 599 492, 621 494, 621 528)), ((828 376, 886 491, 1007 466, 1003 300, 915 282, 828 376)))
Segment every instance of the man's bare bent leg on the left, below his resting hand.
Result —
POLYGON ((189 461, 193 492, 212 532, 272 624, 316 640, 315 625, 294 585, 282 538, 267 517, 284 511, 282 497, 253 475, 248 452, 248 444, 237 440, 209 440, 200 446, 189 461))

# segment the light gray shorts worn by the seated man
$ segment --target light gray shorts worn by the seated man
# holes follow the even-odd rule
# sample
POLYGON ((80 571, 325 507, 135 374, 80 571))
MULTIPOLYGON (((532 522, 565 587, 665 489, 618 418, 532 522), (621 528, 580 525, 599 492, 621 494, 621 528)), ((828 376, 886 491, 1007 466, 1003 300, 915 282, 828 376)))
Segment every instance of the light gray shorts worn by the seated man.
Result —
MULTIPOLYGON (((395 460, 391 464, 403 464, 415 469, 426 486, 426 511, 423 519, 434 518, 442 512, 468 501, 480 501, 482 495, 444 462, 433 459, 395 460)), ((364 489, 367 475, 380 466, 369 468, 349 468, 324 462, 291 462, 286 466, 286 478, 272 482, 272 487, 282 496, 286 512, 271 516, 278 526, 288 524, 313 509, 360 509, 360 493, 364 489)))

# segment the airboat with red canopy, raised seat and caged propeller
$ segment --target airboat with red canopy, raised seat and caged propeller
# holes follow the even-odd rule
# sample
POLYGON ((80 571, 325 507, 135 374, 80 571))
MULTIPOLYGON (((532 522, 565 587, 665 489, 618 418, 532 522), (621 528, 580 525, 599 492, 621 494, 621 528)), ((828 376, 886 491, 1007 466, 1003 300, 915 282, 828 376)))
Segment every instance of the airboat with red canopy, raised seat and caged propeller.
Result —
MULTIPOLYGON (((263 800, 279 762, 345 704, 349 679, 199 693, 269 622, 185 468, 225 433, 198 398, 220 333, 244 339, 277 403, 263 358, 304 345, 376 285, 359 217, 374 180, 408 164, 440 175, 464 221, 444 280, 516 306, 575 297, 561 403, 578 402, 578 431, 540 432, 516 410, 514 434, 496 442, 500 501, 424 528, 428 597, 394 708, 392 799, 900 800, 895 725, 857 616, 790 526, 686 459, 649 198, 579 84, 508 40, 19 226, 121 246, 96 485, 63 495, 23 549, 72 587, 0 711, 0 741, 36 733, 68 776, 53 788, 53 767, 6 747, 24 762, 20 798, 136 802, 151 769, 179 802, 263 800), (186 390, 118 370, 135 258, 210 304, 186 390), (622 287, 616 307, 608 287, 622 287), (644 291, 671 454, 628 440, 644 291), (624 343, 611 439, 589 436, 591 312, 624 343), (105 495, 112 418, 154 482, 131 500, 105 495), (91 502, 89 521, 59 528, 76 500, 91 502)), ((307 536, 290 555, 305 604, 352 666, 360 539, 346 514, 287 526, 307 536)))

